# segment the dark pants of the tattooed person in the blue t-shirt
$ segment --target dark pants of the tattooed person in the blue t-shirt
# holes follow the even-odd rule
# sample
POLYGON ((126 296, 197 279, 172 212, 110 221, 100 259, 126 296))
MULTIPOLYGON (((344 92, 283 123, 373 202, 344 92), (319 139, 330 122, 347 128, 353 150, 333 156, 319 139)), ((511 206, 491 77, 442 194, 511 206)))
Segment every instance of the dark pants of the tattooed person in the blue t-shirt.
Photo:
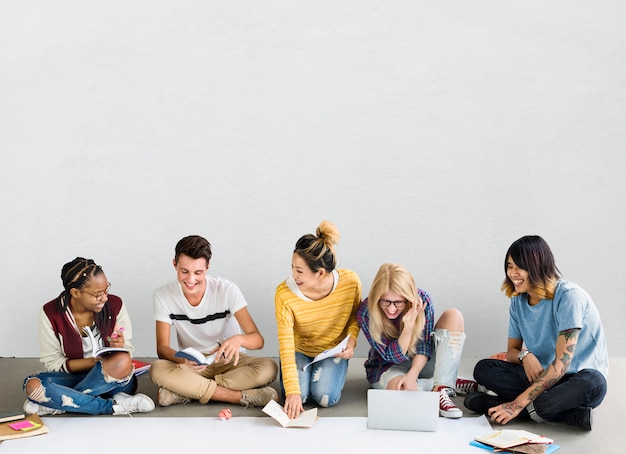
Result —
MULTIPOLYGON (((531 385, 523 366, 497 359, 479 361, 474 367, 474 379, 506 402, 515 400, 531 385)), ((594 369, 583 369, 565 374, 554 386, 541 393, 526 410, 536 421, 562 421, 563 414, 568 411, 600 405, 606 390, 604 375, 594 369), (533 415, 533 411, 536 415, 533 415)))

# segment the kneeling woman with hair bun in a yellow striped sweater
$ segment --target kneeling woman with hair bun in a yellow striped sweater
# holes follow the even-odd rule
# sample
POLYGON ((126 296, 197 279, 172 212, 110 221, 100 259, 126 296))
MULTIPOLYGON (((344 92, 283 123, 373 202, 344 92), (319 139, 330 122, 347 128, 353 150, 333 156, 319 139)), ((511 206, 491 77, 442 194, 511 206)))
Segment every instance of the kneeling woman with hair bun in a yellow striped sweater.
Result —
POLYGON ((280 383, 290 418, 304 411, 308 399, 322 407, 338 403, 348 360, 354 354, 361 281, 354 271, 336 268, 338 240, 339 232, 329 221, 323 221, 315 235, 300 237, 291 259, 291 276, 276 288, 280 383), (304 369, 348 335, 343 351, 304 369))

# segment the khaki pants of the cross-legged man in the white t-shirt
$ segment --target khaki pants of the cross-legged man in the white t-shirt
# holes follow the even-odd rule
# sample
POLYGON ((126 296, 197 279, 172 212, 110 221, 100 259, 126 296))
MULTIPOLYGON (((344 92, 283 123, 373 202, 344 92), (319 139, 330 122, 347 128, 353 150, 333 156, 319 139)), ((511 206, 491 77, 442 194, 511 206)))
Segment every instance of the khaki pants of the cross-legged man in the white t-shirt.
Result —
POLYGON ((155 385, 203 404, 211 400, 217 386, 235 391, 260 388, 272 383, 277 374, 278 365, 274 360, 243 353, 239 354, 237 366, 213 363, 202 372, 166 359, 159 359, 150 366, 150 378, 155 385))

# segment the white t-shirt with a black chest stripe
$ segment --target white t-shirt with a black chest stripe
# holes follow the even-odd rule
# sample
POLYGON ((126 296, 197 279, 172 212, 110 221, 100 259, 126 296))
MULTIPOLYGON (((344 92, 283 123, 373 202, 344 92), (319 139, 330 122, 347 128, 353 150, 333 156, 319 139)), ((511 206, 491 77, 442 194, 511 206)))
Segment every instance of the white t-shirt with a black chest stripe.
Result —
POLYGON ((154 292, 153 311, 156 321, 174 326, 179 349, 193 347, 208 354, 219 342, 242 333, 234 315, 247 305, 239 287, 207 275, 199 305, 189 304, 180 283, 173 281, 154 292))

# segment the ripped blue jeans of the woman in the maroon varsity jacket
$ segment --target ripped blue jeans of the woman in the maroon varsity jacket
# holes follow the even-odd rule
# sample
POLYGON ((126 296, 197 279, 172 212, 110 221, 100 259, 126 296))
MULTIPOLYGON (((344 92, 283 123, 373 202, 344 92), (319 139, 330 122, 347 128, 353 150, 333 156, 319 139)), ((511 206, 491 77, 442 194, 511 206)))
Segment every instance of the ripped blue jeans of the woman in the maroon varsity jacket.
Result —
POLYGON ((24 380, 24 392, 26 383, 31 378, 39 379, 45 391, 40 401, 26 396, 31 402, 56 410, 89 415, 112 414, 115 403, 113 395, 120 392, 132 394, 137 389, 137 378, 134 374, 119 380, 105 377, 100 362, 89 372, 40 372, 30 375, 24 380))

